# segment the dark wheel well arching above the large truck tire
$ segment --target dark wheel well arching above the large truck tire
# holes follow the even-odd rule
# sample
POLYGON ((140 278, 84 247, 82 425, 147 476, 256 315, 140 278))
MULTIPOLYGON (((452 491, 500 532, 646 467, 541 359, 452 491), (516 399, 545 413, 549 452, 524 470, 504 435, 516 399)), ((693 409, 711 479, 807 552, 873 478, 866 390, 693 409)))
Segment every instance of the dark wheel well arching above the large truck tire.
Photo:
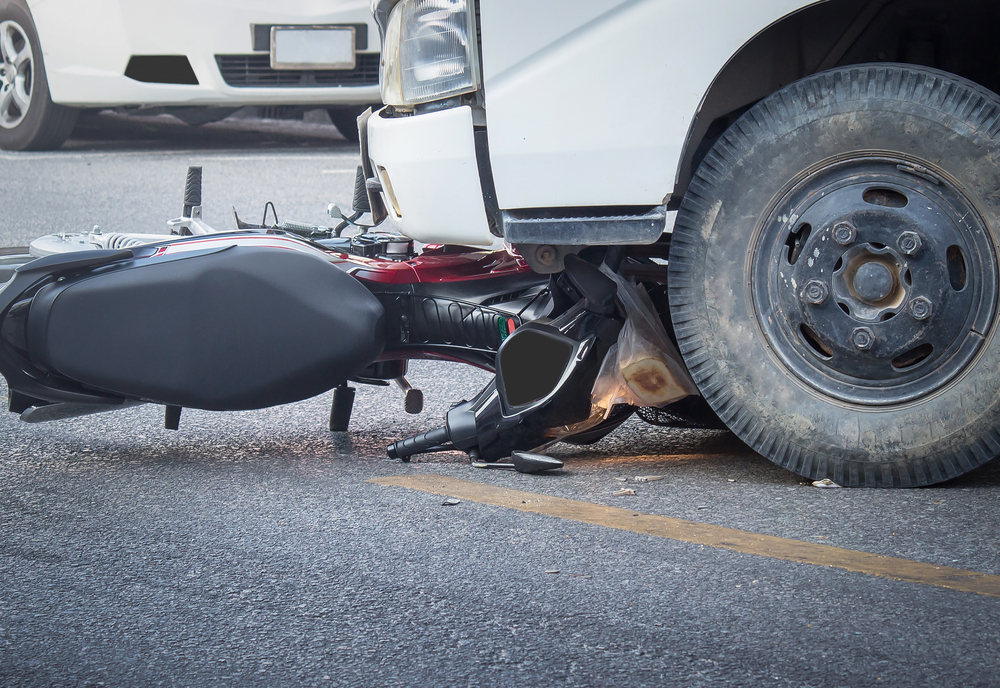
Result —
POLYGON ((755 103, 817 72, 895 62, 935 67, 1000 92, 990 32, 1000 3, 981 0, 827 0, 746 43, 716 76, 691 123, 671 207, 715 141, 755 103))

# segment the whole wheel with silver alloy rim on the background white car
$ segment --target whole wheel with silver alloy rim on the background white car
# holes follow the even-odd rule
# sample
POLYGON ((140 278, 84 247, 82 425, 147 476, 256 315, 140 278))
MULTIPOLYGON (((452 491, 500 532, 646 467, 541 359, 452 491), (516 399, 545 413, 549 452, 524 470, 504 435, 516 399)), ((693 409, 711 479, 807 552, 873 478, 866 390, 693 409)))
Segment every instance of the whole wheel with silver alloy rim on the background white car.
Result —
POLYGON ((77 110, 49 97, 38 33, 20 0, 0 0, 0 72, 0 148, 59 148, 73 131, 77 110))

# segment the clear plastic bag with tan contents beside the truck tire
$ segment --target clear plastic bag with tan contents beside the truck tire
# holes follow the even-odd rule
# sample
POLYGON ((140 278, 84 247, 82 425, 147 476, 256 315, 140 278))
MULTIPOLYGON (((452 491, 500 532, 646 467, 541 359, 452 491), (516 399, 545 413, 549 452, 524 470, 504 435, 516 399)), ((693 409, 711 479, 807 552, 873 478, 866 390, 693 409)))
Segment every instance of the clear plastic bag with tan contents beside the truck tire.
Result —
POLYGON ((601 270, 618 285, 626 320, 594 382, 591 402, 595 411, 606 418, 615 404, 658 407, 698 394, 646 290, 607 266, 601 270))

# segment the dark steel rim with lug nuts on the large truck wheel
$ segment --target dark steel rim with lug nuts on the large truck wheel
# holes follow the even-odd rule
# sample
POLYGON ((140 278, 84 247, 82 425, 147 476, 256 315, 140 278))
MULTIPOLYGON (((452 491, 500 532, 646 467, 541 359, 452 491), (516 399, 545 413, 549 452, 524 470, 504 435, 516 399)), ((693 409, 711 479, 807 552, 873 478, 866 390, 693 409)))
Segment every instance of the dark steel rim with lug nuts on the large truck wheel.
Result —
POLYGON ((760 225, 750 271, 771 350, 806 385, 852 404, 933 394, 994 323, 988 227, 946 173, 898 154, 800 175, 760 225))

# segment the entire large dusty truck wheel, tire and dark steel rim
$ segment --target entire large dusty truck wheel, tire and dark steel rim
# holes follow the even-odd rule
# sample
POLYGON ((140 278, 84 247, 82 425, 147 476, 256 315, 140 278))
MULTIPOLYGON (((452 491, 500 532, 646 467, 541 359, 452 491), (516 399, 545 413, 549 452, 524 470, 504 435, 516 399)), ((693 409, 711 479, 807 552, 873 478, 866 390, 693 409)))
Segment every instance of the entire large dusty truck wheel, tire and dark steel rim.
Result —
POLYGON ((913 487, 1000 453, 1000 99, 909 65, 791 84, 681 204, 670 312, 719 417, 779 466, 913 487))

